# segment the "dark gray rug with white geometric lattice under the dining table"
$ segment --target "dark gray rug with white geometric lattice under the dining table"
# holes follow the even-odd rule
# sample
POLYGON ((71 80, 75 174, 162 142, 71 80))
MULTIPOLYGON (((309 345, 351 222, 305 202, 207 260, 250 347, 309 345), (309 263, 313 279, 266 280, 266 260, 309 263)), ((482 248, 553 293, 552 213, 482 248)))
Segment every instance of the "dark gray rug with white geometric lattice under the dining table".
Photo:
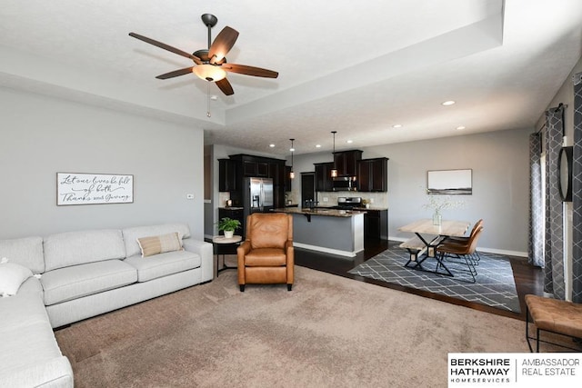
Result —
MULTIPOLYGON (((479 256, 475 284, 468 283, 472 278, 463 272, 467 265, 454 263, 454 259, 445 262, 454 277, 406 268, 404 264, 409 255, 404 249, 388 249, 357 265, 349 273, 520 313, 513 270, 507 258, 481 252, 479 256)), ((428 258, 422 265, 434 270, 436 263, 435 259, 428 258)))

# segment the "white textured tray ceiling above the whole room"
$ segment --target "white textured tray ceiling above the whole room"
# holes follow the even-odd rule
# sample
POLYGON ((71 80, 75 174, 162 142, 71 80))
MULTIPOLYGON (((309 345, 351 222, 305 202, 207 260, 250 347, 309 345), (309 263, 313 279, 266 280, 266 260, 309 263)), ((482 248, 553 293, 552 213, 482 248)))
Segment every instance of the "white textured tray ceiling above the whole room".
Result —
POLYGON ((346 149, 533 127, 581 45, 579 0, 3 0, 0 85, 192 124, 208 144, 285 155, 293 137, 305 154, 332 130, 346 149), (228 62, 279 77, 229 74, 232 96, 157 80, 191 63, 127 34, 194 52, 205 13, 213 37, 240 34, 228 62))

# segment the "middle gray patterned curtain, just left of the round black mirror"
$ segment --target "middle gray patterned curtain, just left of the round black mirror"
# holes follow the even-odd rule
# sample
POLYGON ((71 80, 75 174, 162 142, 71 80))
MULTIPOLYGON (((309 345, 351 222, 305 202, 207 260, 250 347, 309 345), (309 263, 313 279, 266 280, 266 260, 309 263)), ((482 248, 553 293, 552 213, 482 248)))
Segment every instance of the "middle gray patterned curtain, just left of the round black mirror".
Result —
POLYGON ((546 111, 546 243, 544 291, 566 299, 564 284, 564 237, 562 198, 559 193, 557 158, 564 135, 564 107, 546 111))

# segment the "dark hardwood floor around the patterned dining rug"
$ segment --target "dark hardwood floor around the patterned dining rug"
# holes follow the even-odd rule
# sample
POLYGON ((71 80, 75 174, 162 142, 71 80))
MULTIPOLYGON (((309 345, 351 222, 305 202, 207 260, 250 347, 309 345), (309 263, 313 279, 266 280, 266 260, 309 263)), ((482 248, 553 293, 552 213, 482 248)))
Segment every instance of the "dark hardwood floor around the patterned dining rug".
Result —
POLYGON ((328 274, 336 274, 350 279, 355 279, 360 282, 369 284, 376 284, 382 287, 392 288, 403 291, 405 293, 415 293, 426 298, 437 299, 439 301, 454 303, 457 305, 466 306, 475 310, 484 311, 487 313, 495 313, 510 318, 526 320, 526 304, 524 297, 527 293, 534 293, 541 295, 543 293, 543 272, 540 268, 533 267, 527 264, 527 259, 523 257, 510 257, 511 267, 513 268, 513 275, 516 281, 517 295, 519 296, 519 304, 521 313, 512 313, 505 310, 500 310, 494 307, 489 307, 483 304, 467 302, 460 299, 455 299, 450 296, 440 295, 437 293, 428 293, 426 291, 416 290, 413 288, 404 287, 398 284, 386 284, 384 282, 368 279, 356 274, 348 274, 347 272, 358 264, 364 263, 367 259, 374 257, 376 254, 385 251, 387 248, 392 248, 400 244, 400 242, 393 241, 366 241, 365 250, 359 253, 354 258, 343 256, 336 256, 333 254, 322 254, 314 251, 308 251, 301 248, 295 248, 295 264, 307 268, 312 268, 318 271, 323 271, 328 274))

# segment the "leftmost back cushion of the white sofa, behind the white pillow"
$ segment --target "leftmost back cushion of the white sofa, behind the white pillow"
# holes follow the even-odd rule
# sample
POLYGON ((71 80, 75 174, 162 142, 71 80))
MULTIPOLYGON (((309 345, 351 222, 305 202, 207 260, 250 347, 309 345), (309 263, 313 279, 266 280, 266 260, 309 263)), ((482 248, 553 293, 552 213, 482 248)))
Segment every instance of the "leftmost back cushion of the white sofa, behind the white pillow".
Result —
POLYGON ((0 240, 0 258, 7 257, 11 263, 24 265, 34 274, 45 272, 42 237, 25 237, 0 240))

